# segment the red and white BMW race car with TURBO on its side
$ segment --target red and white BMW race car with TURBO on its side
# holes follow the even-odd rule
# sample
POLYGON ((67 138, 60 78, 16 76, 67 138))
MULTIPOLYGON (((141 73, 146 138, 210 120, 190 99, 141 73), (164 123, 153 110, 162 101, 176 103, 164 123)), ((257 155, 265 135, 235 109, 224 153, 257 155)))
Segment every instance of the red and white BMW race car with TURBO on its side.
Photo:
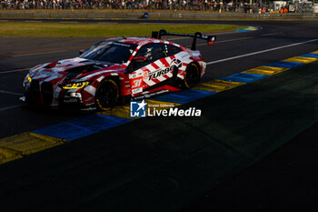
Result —
POLYGON ((212 45, 213 35, 153 32, 152 37, 106 39, 80 56, 33 67, 25 76, 25 101, 36 105, 109 109, 138 99, 194 86, 206 63, 196 38, 212 45), (194 37, 191 49, 161 40, 162 35, 194 37))

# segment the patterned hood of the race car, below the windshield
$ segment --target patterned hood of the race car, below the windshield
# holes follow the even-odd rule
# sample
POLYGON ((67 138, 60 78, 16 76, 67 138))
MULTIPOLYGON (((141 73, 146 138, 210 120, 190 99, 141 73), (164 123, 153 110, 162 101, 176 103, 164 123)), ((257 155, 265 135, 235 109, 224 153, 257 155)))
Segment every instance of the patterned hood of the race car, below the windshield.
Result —
POLYGON ((29 75, 33 80, 63 84, 89 80, 104 73, 124 73, 124 68, 124 65, 75 57, 35 66, 30 70, 29 75))

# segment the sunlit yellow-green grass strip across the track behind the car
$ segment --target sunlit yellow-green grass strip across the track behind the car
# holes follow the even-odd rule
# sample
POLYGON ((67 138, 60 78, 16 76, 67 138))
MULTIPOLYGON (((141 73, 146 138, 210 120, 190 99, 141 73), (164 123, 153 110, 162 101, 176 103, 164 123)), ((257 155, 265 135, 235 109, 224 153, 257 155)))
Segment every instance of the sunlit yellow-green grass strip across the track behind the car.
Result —
POLYGON ((213 33, 234 31, 240 25, 148 25, 148 24, 65 24, 65 23, 0 23, 0 36, 99 37, 150 36, 165 29, 175 33, 213 33))

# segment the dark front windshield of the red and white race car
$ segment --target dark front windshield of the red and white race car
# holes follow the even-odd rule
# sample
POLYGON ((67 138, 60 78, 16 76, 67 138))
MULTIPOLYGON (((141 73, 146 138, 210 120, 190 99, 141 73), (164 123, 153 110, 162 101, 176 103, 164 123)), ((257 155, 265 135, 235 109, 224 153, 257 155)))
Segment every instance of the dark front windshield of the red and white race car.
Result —
POLYGON ((137 45, 102 41, 88 49, 81 58, 123 64, 132 56, 137 45))

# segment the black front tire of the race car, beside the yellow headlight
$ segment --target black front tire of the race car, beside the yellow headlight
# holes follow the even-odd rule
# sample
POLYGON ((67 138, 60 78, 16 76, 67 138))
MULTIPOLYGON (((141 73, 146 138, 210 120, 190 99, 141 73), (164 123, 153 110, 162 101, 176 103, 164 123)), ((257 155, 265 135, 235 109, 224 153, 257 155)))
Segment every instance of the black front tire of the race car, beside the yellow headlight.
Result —
POLYGON ((109 110, 117 105, 119 90, 112 79, 105 79, 96 89, 95 102, 97 109, 109 110))

